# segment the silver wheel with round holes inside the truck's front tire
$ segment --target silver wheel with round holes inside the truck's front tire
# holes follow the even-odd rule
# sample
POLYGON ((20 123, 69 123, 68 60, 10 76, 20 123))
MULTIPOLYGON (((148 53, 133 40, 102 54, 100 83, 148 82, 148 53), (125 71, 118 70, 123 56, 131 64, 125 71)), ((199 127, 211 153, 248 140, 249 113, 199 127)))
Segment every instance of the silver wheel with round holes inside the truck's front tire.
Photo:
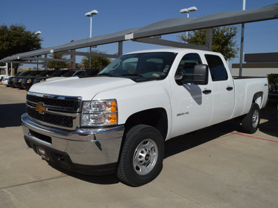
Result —
POLYGON ((136 148, 133 155, 133 168, 139 175, 146 175, 156 165, 158 148, 152 139, 145 139, 136 148))

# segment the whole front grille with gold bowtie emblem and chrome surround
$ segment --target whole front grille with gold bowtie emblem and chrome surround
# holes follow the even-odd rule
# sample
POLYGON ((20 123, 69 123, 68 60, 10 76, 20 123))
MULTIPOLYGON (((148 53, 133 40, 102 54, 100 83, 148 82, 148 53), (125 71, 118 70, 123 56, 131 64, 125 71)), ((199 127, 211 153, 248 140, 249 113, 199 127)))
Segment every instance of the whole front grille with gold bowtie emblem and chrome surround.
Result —
POLYGON ((80 97, 28 92, 26 104, 28 116, 43 125, 69 130, 79 125, 80 97))

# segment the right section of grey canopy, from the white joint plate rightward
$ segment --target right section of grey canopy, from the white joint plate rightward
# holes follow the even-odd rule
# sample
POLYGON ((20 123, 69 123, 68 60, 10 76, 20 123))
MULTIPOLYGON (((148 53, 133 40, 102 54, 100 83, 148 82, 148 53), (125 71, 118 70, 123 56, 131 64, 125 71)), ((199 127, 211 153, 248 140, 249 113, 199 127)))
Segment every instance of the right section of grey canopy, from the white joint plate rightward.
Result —
POLYGON ((180 33, 204 28, 214 28, 278 18, 278 3, 251 10, 220 12, 198 18, 176 18, 158 21, 138 29, 133 38, 180 33))

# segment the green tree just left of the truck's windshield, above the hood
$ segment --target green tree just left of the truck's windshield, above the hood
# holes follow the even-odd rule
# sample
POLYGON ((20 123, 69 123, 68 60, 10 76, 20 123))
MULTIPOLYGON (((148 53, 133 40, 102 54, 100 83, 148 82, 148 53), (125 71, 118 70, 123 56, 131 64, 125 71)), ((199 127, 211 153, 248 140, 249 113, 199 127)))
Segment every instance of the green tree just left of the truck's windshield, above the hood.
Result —
MULTIPOLYGON (((99 50, 95 50, 92 52, 105 54, 104 51, 99 51, 99 50)), ((111 63, 111 60, 109 58, 93 56, 91 59, 91 68, 92 69, 99 69, 100 67, 104 68, 110 63, 111 63)), ((82 59, 82 64, 84 65, 85 69, 89 69, 90 68, 90 56, 85 56, 82 59)))

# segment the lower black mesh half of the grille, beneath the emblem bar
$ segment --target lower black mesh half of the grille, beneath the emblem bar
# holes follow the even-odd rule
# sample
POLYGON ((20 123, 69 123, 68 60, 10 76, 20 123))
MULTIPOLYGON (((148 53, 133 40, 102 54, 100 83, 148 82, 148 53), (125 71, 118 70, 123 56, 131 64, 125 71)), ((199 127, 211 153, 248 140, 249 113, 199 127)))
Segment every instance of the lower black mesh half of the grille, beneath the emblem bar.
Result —
POLYGON ((40 114, 38 111, 33 110, 29 107, 27 107, 27 113, 28 116, 31 118, 38 120, 38 121, 43 121, 45 123, 50 123, 53 125, 58 125, 58 126, 63 126, 66 128, 72 128, 72 120, 74 119, 72 116, 60 116, 56 114, 40 114))

